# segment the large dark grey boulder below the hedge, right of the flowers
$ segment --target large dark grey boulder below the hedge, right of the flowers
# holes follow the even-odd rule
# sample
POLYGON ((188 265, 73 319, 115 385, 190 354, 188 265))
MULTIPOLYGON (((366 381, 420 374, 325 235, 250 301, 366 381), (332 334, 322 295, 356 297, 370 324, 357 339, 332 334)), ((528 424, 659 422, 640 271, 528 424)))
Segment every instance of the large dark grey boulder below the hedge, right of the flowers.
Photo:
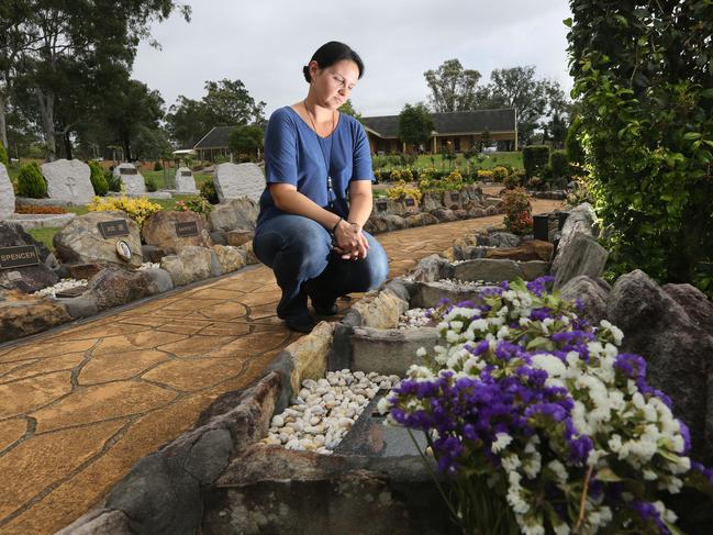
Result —
POLYGON ((648 382, 673 401, 693 456, 713 460, 713 305, 691 288, 665 291, 640 270, 620 277, 606 305, 624 332, 622 350, 642 355, 648 382))

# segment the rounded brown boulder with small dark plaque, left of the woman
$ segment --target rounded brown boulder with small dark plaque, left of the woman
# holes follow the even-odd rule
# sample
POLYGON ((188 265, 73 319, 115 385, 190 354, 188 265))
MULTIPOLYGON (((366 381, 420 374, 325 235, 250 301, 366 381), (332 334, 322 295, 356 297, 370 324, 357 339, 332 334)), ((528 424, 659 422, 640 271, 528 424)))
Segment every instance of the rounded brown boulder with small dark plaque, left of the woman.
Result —
POLYGON ((161 210, 156 212, 146 221, 142 229, 142 235, 147 245, 155 245, 166 253, 177 253, 183 247, 210 247, 213 245, 205 218, 191 211, 161 210), (179 235, 181 225, 196 225, 198 234, 179 235))

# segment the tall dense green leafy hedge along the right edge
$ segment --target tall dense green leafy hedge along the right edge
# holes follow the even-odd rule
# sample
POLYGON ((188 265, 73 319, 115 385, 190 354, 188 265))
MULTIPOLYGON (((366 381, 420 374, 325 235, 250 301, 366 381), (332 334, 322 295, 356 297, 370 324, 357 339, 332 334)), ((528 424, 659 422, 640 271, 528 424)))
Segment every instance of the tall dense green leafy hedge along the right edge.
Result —
POLYGON ((713 296, 702 270, 713 261, 712 7, 572 0, 570 8, 589 183, 602 227, 613 229, 608 269, 638 268, 713 296))

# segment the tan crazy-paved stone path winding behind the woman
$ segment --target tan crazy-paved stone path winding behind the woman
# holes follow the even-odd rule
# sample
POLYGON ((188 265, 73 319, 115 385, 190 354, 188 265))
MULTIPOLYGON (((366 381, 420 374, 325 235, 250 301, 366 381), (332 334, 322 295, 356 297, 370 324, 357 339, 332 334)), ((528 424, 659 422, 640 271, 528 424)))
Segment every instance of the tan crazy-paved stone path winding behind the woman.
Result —
MULTIPOLYGON (((535 213, 559 205, 536 201, 535 213)), ((502 216, 378 236, 390 276, 502 216)), ((79 326, 0 347, 0 534, 47 534, 97 503, 296 334, 270 270, 248 268, 79 326)), ((349 303, 341 302, 345 309, 349 303)))

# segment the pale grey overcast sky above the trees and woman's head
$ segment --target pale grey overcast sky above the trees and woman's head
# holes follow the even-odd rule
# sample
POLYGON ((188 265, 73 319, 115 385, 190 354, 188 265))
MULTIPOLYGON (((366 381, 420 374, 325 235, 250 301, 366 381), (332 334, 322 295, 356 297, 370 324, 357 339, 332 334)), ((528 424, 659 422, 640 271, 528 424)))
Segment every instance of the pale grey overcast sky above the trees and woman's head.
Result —
MULTIPOLYGON (((183 0, 185 1, 185 0, 183 0)), ((423 73, 446 59, 478 70, 535 65, 538 78, 571 89, 567 73, 567 0, 188 0, 153 26, 161 49, 140 46, 134 78, 158 89, 166 105, 179 94, 200 99, 205 80, 241 79, 267 103, 266 116, 307 94, 302 66, 327 41, 364 59, 352 101, 365 116, 398 114, 425 101, 423 73)))

